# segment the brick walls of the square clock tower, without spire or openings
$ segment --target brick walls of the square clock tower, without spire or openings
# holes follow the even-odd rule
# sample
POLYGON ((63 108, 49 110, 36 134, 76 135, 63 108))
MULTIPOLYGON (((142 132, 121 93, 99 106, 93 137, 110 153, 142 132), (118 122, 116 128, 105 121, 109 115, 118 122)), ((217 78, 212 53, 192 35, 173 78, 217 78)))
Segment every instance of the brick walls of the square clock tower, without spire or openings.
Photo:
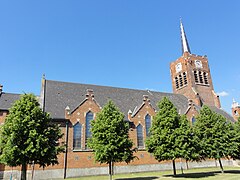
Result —
MULTIPOLYGON (((185 52, 183 56, 170 64, 170 71, 174 93, 183 94, 188 99, 192 99, 198 106, 206 104, 218 108, 221 107, 219 97, 214 93, 210 68, 206 56, 198 56, 185 52), (200 62, 199 66, 196 65, 196 61, 200 62), (181 68, 177 68, 179 64, 181 68), (197 72, 197 77, 200 77, 200 72, 203 83, 196 82, 194 71, 197 72), (187 84, 177 87, 176 81, 180 80, 176 80, 175 78, 179 78, 179 76, 183 78, 183 73, 186 73, 187 84), (206 74, 207 83, 204 81, 203 73, 206 74)), ((199 80, 200 78, 197 79, 199 80)))

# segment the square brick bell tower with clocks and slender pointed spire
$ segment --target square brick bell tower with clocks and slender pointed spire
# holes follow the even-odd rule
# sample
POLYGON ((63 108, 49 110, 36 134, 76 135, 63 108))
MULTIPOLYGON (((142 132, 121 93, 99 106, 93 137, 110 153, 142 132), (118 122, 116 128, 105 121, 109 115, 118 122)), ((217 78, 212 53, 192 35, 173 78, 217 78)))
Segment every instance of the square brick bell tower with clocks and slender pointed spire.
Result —
POLYGON ((192 54, 180 20, 182 56, 171 62, 170 72, 173 92, 191 99, 196 105, 221 107, 214 92, 207 56, 192 54))

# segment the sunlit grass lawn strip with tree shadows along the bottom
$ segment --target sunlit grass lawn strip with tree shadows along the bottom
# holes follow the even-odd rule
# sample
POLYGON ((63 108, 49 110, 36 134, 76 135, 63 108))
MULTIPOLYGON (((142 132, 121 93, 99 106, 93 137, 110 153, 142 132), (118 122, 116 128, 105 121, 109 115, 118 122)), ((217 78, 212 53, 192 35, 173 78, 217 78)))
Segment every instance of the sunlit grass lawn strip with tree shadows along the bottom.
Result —
MULTIPOLYGON (((240 168, 225 167, 225 173, 222 174, 219 168, 200 168, 184 170, 184 174, 180 170, 177 171, 177 176, 172 176, 172 171, 146 172, 146 173, 131 173, 117 174, 113 176, 114 180, 240 180, 240 168)), ((108 180, 108 176, 88 176, 79 178, 68 178, 68 180, 108 180)))

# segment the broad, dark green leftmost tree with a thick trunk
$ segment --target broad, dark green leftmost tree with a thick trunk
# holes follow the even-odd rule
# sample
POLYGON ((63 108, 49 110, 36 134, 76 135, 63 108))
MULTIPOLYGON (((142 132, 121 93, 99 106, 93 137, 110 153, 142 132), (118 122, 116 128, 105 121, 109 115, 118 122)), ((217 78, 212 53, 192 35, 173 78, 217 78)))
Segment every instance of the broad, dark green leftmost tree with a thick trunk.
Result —
POLYGON ((26 179, 27 164, 41 167, 58 163, 63 151, 58 140, 62 133, 42 111, 33 94, 24 94, 9 110, 0 131, 0 162, 21 166, 21 179, 26 179))

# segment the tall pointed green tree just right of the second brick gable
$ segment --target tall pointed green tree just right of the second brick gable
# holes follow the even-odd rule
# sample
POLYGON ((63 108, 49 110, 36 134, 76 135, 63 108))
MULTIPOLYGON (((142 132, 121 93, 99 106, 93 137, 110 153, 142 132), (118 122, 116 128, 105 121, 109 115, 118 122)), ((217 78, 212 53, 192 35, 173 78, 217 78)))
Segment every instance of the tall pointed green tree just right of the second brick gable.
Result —
POLYGON ((175 159, 181 157, 178 144, 180 116, 166 97, 158 103, 158 108, 150 128, 150 137, 146 140, 147 151, 158 161, 172 160, 173 174, 176 175, 175 159))

